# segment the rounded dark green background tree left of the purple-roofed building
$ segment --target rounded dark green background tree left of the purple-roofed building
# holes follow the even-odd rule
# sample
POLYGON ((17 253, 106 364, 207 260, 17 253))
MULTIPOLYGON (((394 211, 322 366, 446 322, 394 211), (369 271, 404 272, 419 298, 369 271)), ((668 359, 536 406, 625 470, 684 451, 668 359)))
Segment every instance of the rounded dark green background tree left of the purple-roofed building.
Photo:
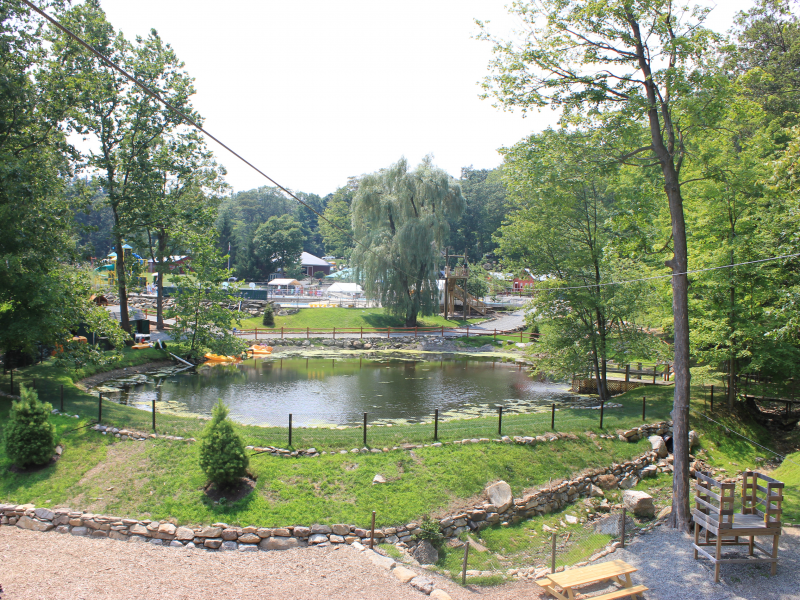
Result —
POLYGON ((303 252, 303 231, 291 215, 270 217, 253 236, 253 257, 259 274, 268 278, 280 270, 286 277, 303 252))

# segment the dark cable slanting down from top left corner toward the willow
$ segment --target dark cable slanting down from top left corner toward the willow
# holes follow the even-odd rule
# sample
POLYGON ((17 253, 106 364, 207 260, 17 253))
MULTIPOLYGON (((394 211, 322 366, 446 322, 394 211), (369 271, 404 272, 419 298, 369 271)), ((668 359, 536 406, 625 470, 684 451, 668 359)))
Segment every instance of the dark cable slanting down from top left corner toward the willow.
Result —
MULTIPOLYGON (((298 197, 297 197, 297 195, 295 195, 295 194, 294 194, 294 192, 292 192, 292 191, 291 191, 291 190, 289 190, 288 188, 286 188, 286 187, 282 186, 280 183, 278 183, 277 181, 275 181, 275 180, 274 180, 272 177, 270 177, 269 175, 267 175, 267 174, 266 174, 264 171, 262 171, 261 169, 259 169, 257 166, 255 166, 253 163, 251 163, 249 160, 247 160, 245 157, 243 157, 241 154, 239 154, 238 152, 236 152, 236 151, 235 151, 233 148, 231 148, 230 146, 228 146, 227 144, 225 144, 225 143, 224 143, 222 140, 220 140, 218 137, 216 137, 216 136, 215 136, 215 135, 213 135, 211 132, 209 132, 208 130, 206 130, 206 129, 205 129, 203 126, 202 126, 202 125, 200 125, 200 124, 199 124, 199 123, 198 123, 198 122, 197 122, 195 119, 193 119, 191 116, 189 116, 188 114, 186 114, 184 111, 182 111, 181 109, 177 108, 176 106, 173 106, 173 105, 172 105, 172 103, 170 103, 170 102, 168 102, 167 100, 165 100, 165 99, 164 99, 164 98, 161 96, 161 94, 159 94, 159 93, 158 93, 156 90, 152 89, 152 88, 151 88, 151 87, 149 87, 147 84, 145 84, 145 83, 143 83, 142 81, 140 81, 140 80, 139 80, 139 79, 138 79, 136 76, 134 76, 134 75, 131 75, 130 73, 128 73, 128 72, 127 72, 125 69, 123 69, 122 67, 120 67, 119 65, 117 65, 115 62, 113 62, 113 61, 109 60, 108 58, 106 58, 105 56, 103 56, 103 55, 102 55, 100 52, 98 52, 96 49, 94 49, 94 48, 93 48, 93 47, 92 47, 92 46, 91 46, 91 45, 90 45, 90 44, 89 44, 87 41, 85 41, 83 38, 81 38, 81 37, 80 37, 78 34, 76 34, 75 32, 73 32, 73 31, 72 31, 71 29, 69 29, 68 27, 66 27, 66 26, 62 25, 62 24, 61 24, 61 23, 60 23, 60 22, 59 22, 57 19, 55 19, 55 18, 51 17, 50 15, 48 15, 46 12, 44 12, 43 10, 41 10, 40 8, 38 8, 37 6, 34 6, 34 5, 33 5, 33 4, 32 4, 32 3, 29 1, 29 0, 20 0, 20 2, 22 2, 23 4, 25 4, 26 6, 28 6, 28 7, 29 7, 31 10, 33 10, 33 11, 34 11, 34 12, 36 12, 36 13, 38 13, 38 14, 39 14, 39 15, 41 15, 42 17, 44 17, 44 18, 45 18, 47 21, 49 21, 50 23, 52 23, 52 24, 53 24, 53 25, 54 25, 54 26, 55 26, 57 29, 60 29, 61 31, 63 31, 64 33, 66 33, 66 34, 67 34, 69 37, 71 37, 73 40, 75 40, 76 42, 78 42, 78 44, 80 44, 80 45, 81 45, 81 46, 83 46, 83 47, 84 47, 86 50, 88 50, 89 52, 91 52, 92 54, 94 54, 94 55, 95 55, 97 58, 99 58, 99 59, 100 59, 100 60, 101 60, 101 61, 102 61, 104 64, 106 64, 108 67, 110 67, 111 69, 113 69, 113 70, 115 70, 116 72, 118 72, 119 74, 121 74, 121 75, 122 75, 123 77, 125 77, 125 78, 126 78, 128 81, 130 81, 131 83, 133 83, 135 86, 137 86, 137 87, 141 88, 141 89, 142 89, 142 90, 143 90, 143 91, 144 91, 146 94, 148 94, 150 97, 152 97, 153 99, 155 99, 157 102, 160 102, 161 104, 163 104, 164 106, 166 106, 168 109, 170 109, 170 110, 171 110, 172 112, 174 112, 176 115, 178 115, 178 116, 179 116, 181 119, 183 119, 184 121, 186 121, 187 123, 189 123, 189 124, 190 124, 192 127, 194 127, 195 129, 197 129, 198 131, 200 131, 200 132, 201 132, 203 135, 205 135, 205 136, 206 136, 206 137, 208 137, 209 139, 211 139, 211 140, 215 141, 217 144, 219 144, 220 146, 222 146, 222 147, 223 147, 225 150, 227 150, 228 152, 230 152, 231 154, 233 154, 233 156, 235 156, 236 158, 238 158, 240 161, 242 161, 242 162, 243 162, 244 164, 246 164, 248 167, 250 167, 251 169, 253 169, 253 170, 254 170, 256 173, 258 173, 259 175, 261 175, 262 177, 264 177, 264 178, 265 178, 267 181, 269 181, 270 183, 272 183, 272 184, 273 184, 275 187, 277 187, 277 188, 278 188, 278 189, 280 189, 282 192, 284 192, 284 193, 285 193, 285 194, 287 194, 289 197, 291 197, 293 200, 297 201, 299 204, 301 204, 302 206, 304 206, 305 208, 307 208, 308 210, 310 210, 312 213, 314 213, 315 215, 317 215, 317 217, 318 217, 318 218, 320 218, 320 219, 322 219, 323 221, 325 221, 326 223, 328 223, 328 224, 329 224, 331 227, 333 227, 334 229, 337 229, 337 230, 341 231, 342 233, 344 233, 346 236, 348 236, 348 237, 349 237, 349 238, 350 238, 350 239, 353 241, 353 243, 354 243, 354 244, 356 244, 356 245, 359 245, 359 246, 363 247, 363 248, 364 248, 364 249, 365 249, 367 252, 372 252, 372 253, 374 253, 374 251, 373 251, 371 248, 369 248, 369 247, 365 246, 364 244, 362 244, 361 242, 359 242, 359 241, 358 241, 358 240, 355 238, 355 236, 354 236, 353 234, 351 234, 351 233, 348 233, 347 231, 345 231, 344 229, 342 229, 341 227, 337 226, 335 223, 333 223, 332 221, 330 221, 329 219, 327 219, 327 218, 326 218, 324 215, 322 215, 322 214, 320 214, 319 212, 317 212, 316 210, 314 210, 314 208, 312 208, 312 207, 311 207, 311 206, 310 206, 310 205, 309 205, 307 202, 305 202, 305 201, 301 200, 300 198, 298 198, 298 197)), ((405 272, 405 271, 403 271, 402 269, 398 268, 396 265, 394 265, 394 263, 392 263, 392 266, 393 266, 393 268, 397 269, 399 272, 401 272, 401 273, 405 274, 406 276, 408 276, 408 277, 412 277, 412 275, 411 275, 411 274, 409 274, 409 273, 406 273, 406 272, 405 272)))

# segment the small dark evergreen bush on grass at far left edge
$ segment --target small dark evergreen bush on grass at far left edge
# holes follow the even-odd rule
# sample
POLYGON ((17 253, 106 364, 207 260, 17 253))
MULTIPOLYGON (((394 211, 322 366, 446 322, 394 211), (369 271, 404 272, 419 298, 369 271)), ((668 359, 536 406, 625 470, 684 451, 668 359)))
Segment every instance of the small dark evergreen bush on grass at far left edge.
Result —
POLYGON ((43 465, 56 449, 56 428, 50 422, 53 406, 39 402, 36 390, 22 385, 19 395, 5 426, 6 454, 18 467, 43 465))

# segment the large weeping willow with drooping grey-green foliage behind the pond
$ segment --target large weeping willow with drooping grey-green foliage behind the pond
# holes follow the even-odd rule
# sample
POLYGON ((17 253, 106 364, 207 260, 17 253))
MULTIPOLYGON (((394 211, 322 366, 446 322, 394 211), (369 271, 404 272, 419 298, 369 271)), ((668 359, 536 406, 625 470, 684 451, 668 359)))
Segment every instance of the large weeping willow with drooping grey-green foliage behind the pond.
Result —
POLYGON ((389 314, 405 318, 406 327, 416 325, 418 315, 438 312, 441 248, 448 219, 463 206, 461 188, 429 156, 414 171, 401 158, 358 186, 352 206, 356 276, 389 314))

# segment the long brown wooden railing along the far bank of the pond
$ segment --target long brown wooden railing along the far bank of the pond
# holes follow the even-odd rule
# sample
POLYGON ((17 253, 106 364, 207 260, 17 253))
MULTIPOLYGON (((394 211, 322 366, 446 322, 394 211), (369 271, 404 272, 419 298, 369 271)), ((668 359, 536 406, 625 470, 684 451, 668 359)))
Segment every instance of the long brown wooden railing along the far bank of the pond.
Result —
POLYGON ((363 338, 364 335, 368 337, 376 337, 380 336, 383 337, 384 335, 386 338, 391 338, 392 335, 395 337, 406 337, 411 336, 413 334, 414 337, 419 336, 438 336, 438 337, 477 337, 477 336, 491 336, 495 340, 497 336, 507 336, 507 337, 517 337, 519 336, 519 341, 533 341, 539 337, 538 333, 530 333, 527 331, 513 331, 513 330, 504 330, 504 329, 475 329, 469 326, 467 327, 332 327, 330 329, 326 328, 314 328, 311 327, 281 327, 281 328, 259 328, 256 327, 254 329, 237 329, 234 332, 234 335, 239 337, 245 336, 255 336, 255 339, 258 339, 259 334, 262 336, 262 339, 273 339, 280 336, 283 339, 286 336, 290 337, 302 337, 303 335, 306 336, 306 339, 311 338, 311 336, 320 336, 320 335, 331 335, 333 339, 336 339, 336 336, 339 335, 340 337, 354 337, 358 336, 359 338, 363 338))

